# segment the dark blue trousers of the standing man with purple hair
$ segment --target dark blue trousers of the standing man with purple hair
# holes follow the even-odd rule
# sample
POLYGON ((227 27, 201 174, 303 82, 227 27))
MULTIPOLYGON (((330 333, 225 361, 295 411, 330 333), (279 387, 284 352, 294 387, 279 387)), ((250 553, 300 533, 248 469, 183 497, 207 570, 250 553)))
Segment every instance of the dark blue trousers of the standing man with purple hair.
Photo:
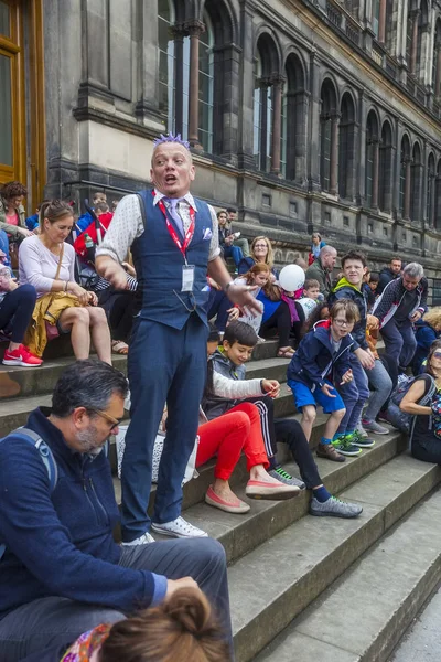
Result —
POLYGON ((122 540, 150 528, 149 503, 154 438, 168 405, 166 439, 159 467, 153 521, 181 514, 182 480, 193 450, 206 380, 207 327, 192 313, 183 329, 138 318, 128 357, 131 394, 121 487, 122 540))

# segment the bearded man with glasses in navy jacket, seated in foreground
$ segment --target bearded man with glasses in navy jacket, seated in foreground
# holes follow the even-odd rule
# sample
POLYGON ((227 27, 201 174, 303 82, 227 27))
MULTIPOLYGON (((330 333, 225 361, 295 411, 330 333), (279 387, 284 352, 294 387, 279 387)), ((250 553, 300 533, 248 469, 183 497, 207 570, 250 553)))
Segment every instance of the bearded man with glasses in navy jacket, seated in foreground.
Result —
POLYGON ((55 662, 83 632, 179 588, 212 600, 232 647, 225 552, 212 538, 127 547, 103 447, 127 380, 98 360, 58 380, 52 409, 0 440, 0 662, 55 662))

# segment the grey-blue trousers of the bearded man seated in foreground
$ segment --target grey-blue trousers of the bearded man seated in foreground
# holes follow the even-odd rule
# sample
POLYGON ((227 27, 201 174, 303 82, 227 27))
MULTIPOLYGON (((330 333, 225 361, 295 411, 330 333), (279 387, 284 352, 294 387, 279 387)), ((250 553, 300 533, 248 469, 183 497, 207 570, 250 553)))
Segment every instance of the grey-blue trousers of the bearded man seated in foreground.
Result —
MULTIPOLYGON (((220 543, 193 538, 122 547, 119 565, 149 569, 169 579, 193 577, 211 600, 233 651, 227 568, 220 543)), ((83 632, 126 618, 104 604, 49 596, 18 607, 0 620, 0 662, 58 662, 60 652, 64 654, 83 632)))

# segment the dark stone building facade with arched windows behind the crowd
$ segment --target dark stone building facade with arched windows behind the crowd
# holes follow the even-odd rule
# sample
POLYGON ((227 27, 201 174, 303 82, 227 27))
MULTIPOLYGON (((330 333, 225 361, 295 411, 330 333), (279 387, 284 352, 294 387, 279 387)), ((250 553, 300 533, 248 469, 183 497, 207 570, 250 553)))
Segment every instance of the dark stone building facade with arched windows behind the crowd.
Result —
POLYGON ((144 186, 173 130, 278 261, 318 229, 441 276, 439 0, 39 2, 47 195, 144 186))

